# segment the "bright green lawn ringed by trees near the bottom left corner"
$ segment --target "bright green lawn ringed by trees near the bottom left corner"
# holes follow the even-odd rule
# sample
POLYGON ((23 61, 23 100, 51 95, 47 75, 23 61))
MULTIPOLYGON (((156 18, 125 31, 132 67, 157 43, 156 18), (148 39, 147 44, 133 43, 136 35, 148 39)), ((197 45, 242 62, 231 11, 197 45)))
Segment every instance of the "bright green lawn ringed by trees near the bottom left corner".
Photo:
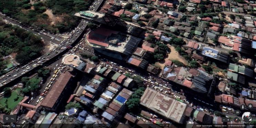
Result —
POLYGON ((6 106, 6 100, 7 100, 8 108, 10 110, 13 110, 18 105, 18 103, 23 99, 22 96, 17 95, 20 93, 20 91, 21 89, 18 88, 12 91, 10 95, 4 96, 3 98, 0 99, 0 104, 2 104, 3 106, 6 106), (17 97, 19 97, 18 100, 14 101, 14 99, 16 99, 17 97))

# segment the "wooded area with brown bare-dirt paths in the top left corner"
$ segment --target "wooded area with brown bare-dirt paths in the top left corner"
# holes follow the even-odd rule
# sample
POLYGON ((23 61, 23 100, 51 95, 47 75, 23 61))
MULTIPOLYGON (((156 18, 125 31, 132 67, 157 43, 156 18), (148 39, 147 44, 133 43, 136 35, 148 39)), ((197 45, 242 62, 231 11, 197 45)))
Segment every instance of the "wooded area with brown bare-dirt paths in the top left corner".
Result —
POLYGON ((28 26, 38 26, 51 33, 65 32, 74 28, 79 18, 73 16, 75 12, 88 10, 92 0, 46 0, 33 5, 28 0, 4 0, 0 4, 0 11, 28 26), (34 8, 31 9, 31 6, 34 8), (64 20, 51 24, 47 14, 43 14, 47 8, 52 9, 55 16, 64 20), (25 11, 22 9, 26 9, 25 11), (30 9, 30 10, 27 10, 30 9))

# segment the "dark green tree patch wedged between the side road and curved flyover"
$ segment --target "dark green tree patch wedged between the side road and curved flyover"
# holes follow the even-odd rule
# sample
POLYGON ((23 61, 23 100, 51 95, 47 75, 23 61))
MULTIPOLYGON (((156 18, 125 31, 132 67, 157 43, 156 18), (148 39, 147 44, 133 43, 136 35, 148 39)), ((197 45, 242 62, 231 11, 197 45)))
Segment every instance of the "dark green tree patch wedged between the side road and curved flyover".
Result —
MULTIPOLYGON (((20 64, 30 62, 41 55, 42 40, 23 29, 0 21, 0 57, 17 53, 16 61, 20 64)), ((6 73, 8 61, 0 60, 0 75, 6 73)))

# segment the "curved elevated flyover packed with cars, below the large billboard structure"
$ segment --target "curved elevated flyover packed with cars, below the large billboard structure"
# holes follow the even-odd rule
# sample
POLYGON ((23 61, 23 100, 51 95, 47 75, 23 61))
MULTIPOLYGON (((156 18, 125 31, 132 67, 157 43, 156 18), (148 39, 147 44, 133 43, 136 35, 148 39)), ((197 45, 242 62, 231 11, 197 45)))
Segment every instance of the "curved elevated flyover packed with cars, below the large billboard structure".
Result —
POLYGON ((6 75, 3 75, 0 77, 0 87, 4 87, 4 85, 8 84, 12 80, 28 73, 32 69, 43 65, 48 60, 52 59, 53 57, 59 55, 63 51, 67 49, 68 46, 76 42, 78 37, 82 34, 83 30, 86 28, 87 21, 82 20, 79 25, 71 32, 70 37, 68 39, 65 39, 64 41, 61 41, 59 46, 55 48, 54 50, 42 55, 36 60, 33 60, 32 62, 13 70, 12 72, 9 72, 6 75))

